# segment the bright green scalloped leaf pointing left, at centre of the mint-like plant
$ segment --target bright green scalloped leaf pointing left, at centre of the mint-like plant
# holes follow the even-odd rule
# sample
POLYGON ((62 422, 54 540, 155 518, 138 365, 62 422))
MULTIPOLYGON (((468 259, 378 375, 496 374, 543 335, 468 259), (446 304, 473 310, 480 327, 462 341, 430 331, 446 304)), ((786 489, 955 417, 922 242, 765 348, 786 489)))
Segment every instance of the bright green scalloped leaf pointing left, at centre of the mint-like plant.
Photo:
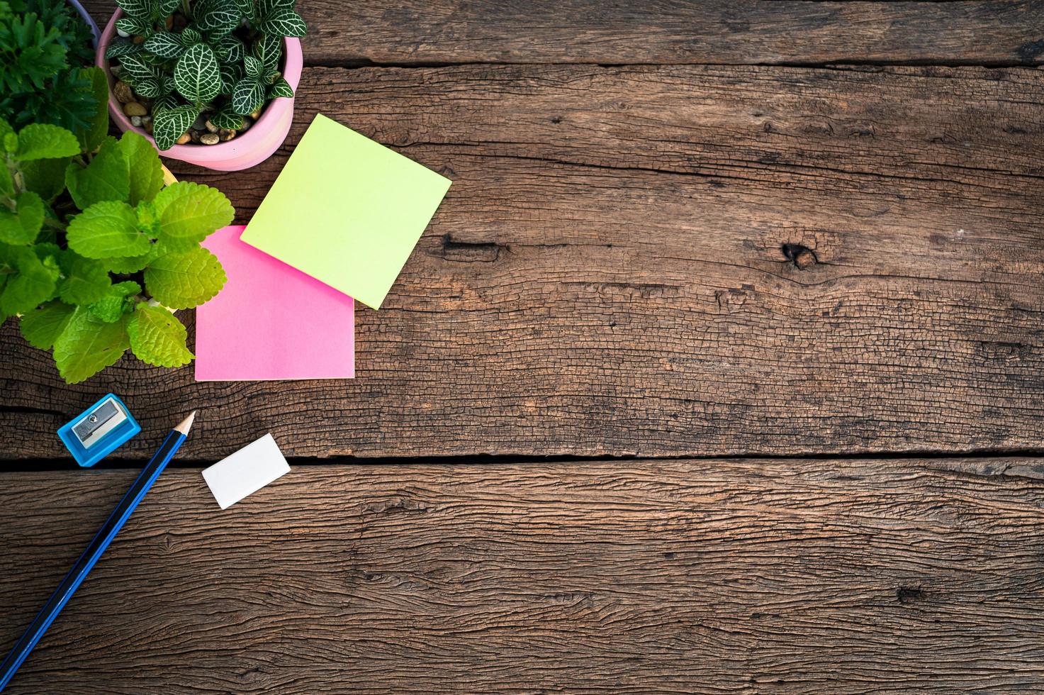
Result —
POLYGON ((66 239, 79 255, 98 259, 141 256, 150 246, 135 209, 120 201, 96 203, 73 217, 66 239))

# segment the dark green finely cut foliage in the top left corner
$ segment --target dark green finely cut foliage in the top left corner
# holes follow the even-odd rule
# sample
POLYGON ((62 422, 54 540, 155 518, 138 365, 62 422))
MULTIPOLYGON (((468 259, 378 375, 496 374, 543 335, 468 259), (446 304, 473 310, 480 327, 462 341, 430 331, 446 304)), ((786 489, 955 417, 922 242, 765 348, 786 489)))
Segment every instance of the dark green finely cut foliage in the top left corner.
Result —
POLYGON ((88 128, 108 98, 90 67, 97 30, 75 0, 0 2, 0 118, 88 128))

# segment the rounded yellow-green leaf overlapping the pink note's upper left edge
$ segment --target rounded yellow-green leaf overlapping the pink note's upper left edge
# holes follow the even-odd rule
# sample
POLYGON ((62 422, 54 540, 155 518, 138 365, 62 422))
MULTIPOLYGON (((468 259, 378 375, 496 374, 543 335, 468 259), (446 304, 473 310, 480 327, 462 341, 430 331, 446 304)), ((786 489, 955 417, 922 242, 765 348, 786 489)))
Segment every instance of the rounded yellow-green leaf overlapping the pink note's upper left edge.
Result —
POLYGON ((175 309, 209 301, 224 280, 217 256, 203 247, 164 254, 145 269, 145 288, 156 301, 175 309))

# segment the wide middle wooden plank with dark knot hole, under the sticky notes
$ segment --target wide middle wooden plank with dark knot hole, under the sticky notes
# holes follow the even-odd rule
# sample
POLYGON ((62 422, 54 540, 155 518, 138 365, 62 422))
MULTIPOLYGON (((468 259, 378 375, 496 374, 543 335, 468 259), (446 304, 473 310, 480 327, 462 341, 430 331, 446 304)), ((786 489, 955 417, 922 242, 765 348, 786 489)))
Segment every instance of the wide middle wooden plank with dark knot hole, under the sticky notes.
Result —
POLYGON ((63 456, 54 431, 105 390, 152 432, 204 408, 199 460, 269 430, 310 457, 1037 449, 1042 88, 1024 69, 310 69, 269 162, 174 168, 247 219, 323 111, 454 180, 385 308, 358 312, 359 378, 126 362, 68 388, 8 325, 0 456, 63 456))

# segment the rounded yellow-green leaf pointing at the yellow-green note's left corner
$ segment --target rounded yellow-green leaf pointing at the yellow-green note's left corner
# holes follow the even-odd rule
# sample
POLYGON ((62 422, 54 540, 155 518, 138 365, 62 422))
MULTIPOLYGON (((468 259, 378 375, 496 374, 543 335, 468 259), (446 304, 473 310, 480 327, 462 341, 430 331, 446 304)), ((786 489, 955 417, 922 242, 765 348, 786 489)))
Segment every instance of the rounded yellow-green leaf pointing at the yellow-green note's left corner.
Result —
POLYGON ((160 241, 172 251, 185 251, 215 229, 232 224, 236 211, 224 193, 189 181, 167 186, 156 196, 160 241))

